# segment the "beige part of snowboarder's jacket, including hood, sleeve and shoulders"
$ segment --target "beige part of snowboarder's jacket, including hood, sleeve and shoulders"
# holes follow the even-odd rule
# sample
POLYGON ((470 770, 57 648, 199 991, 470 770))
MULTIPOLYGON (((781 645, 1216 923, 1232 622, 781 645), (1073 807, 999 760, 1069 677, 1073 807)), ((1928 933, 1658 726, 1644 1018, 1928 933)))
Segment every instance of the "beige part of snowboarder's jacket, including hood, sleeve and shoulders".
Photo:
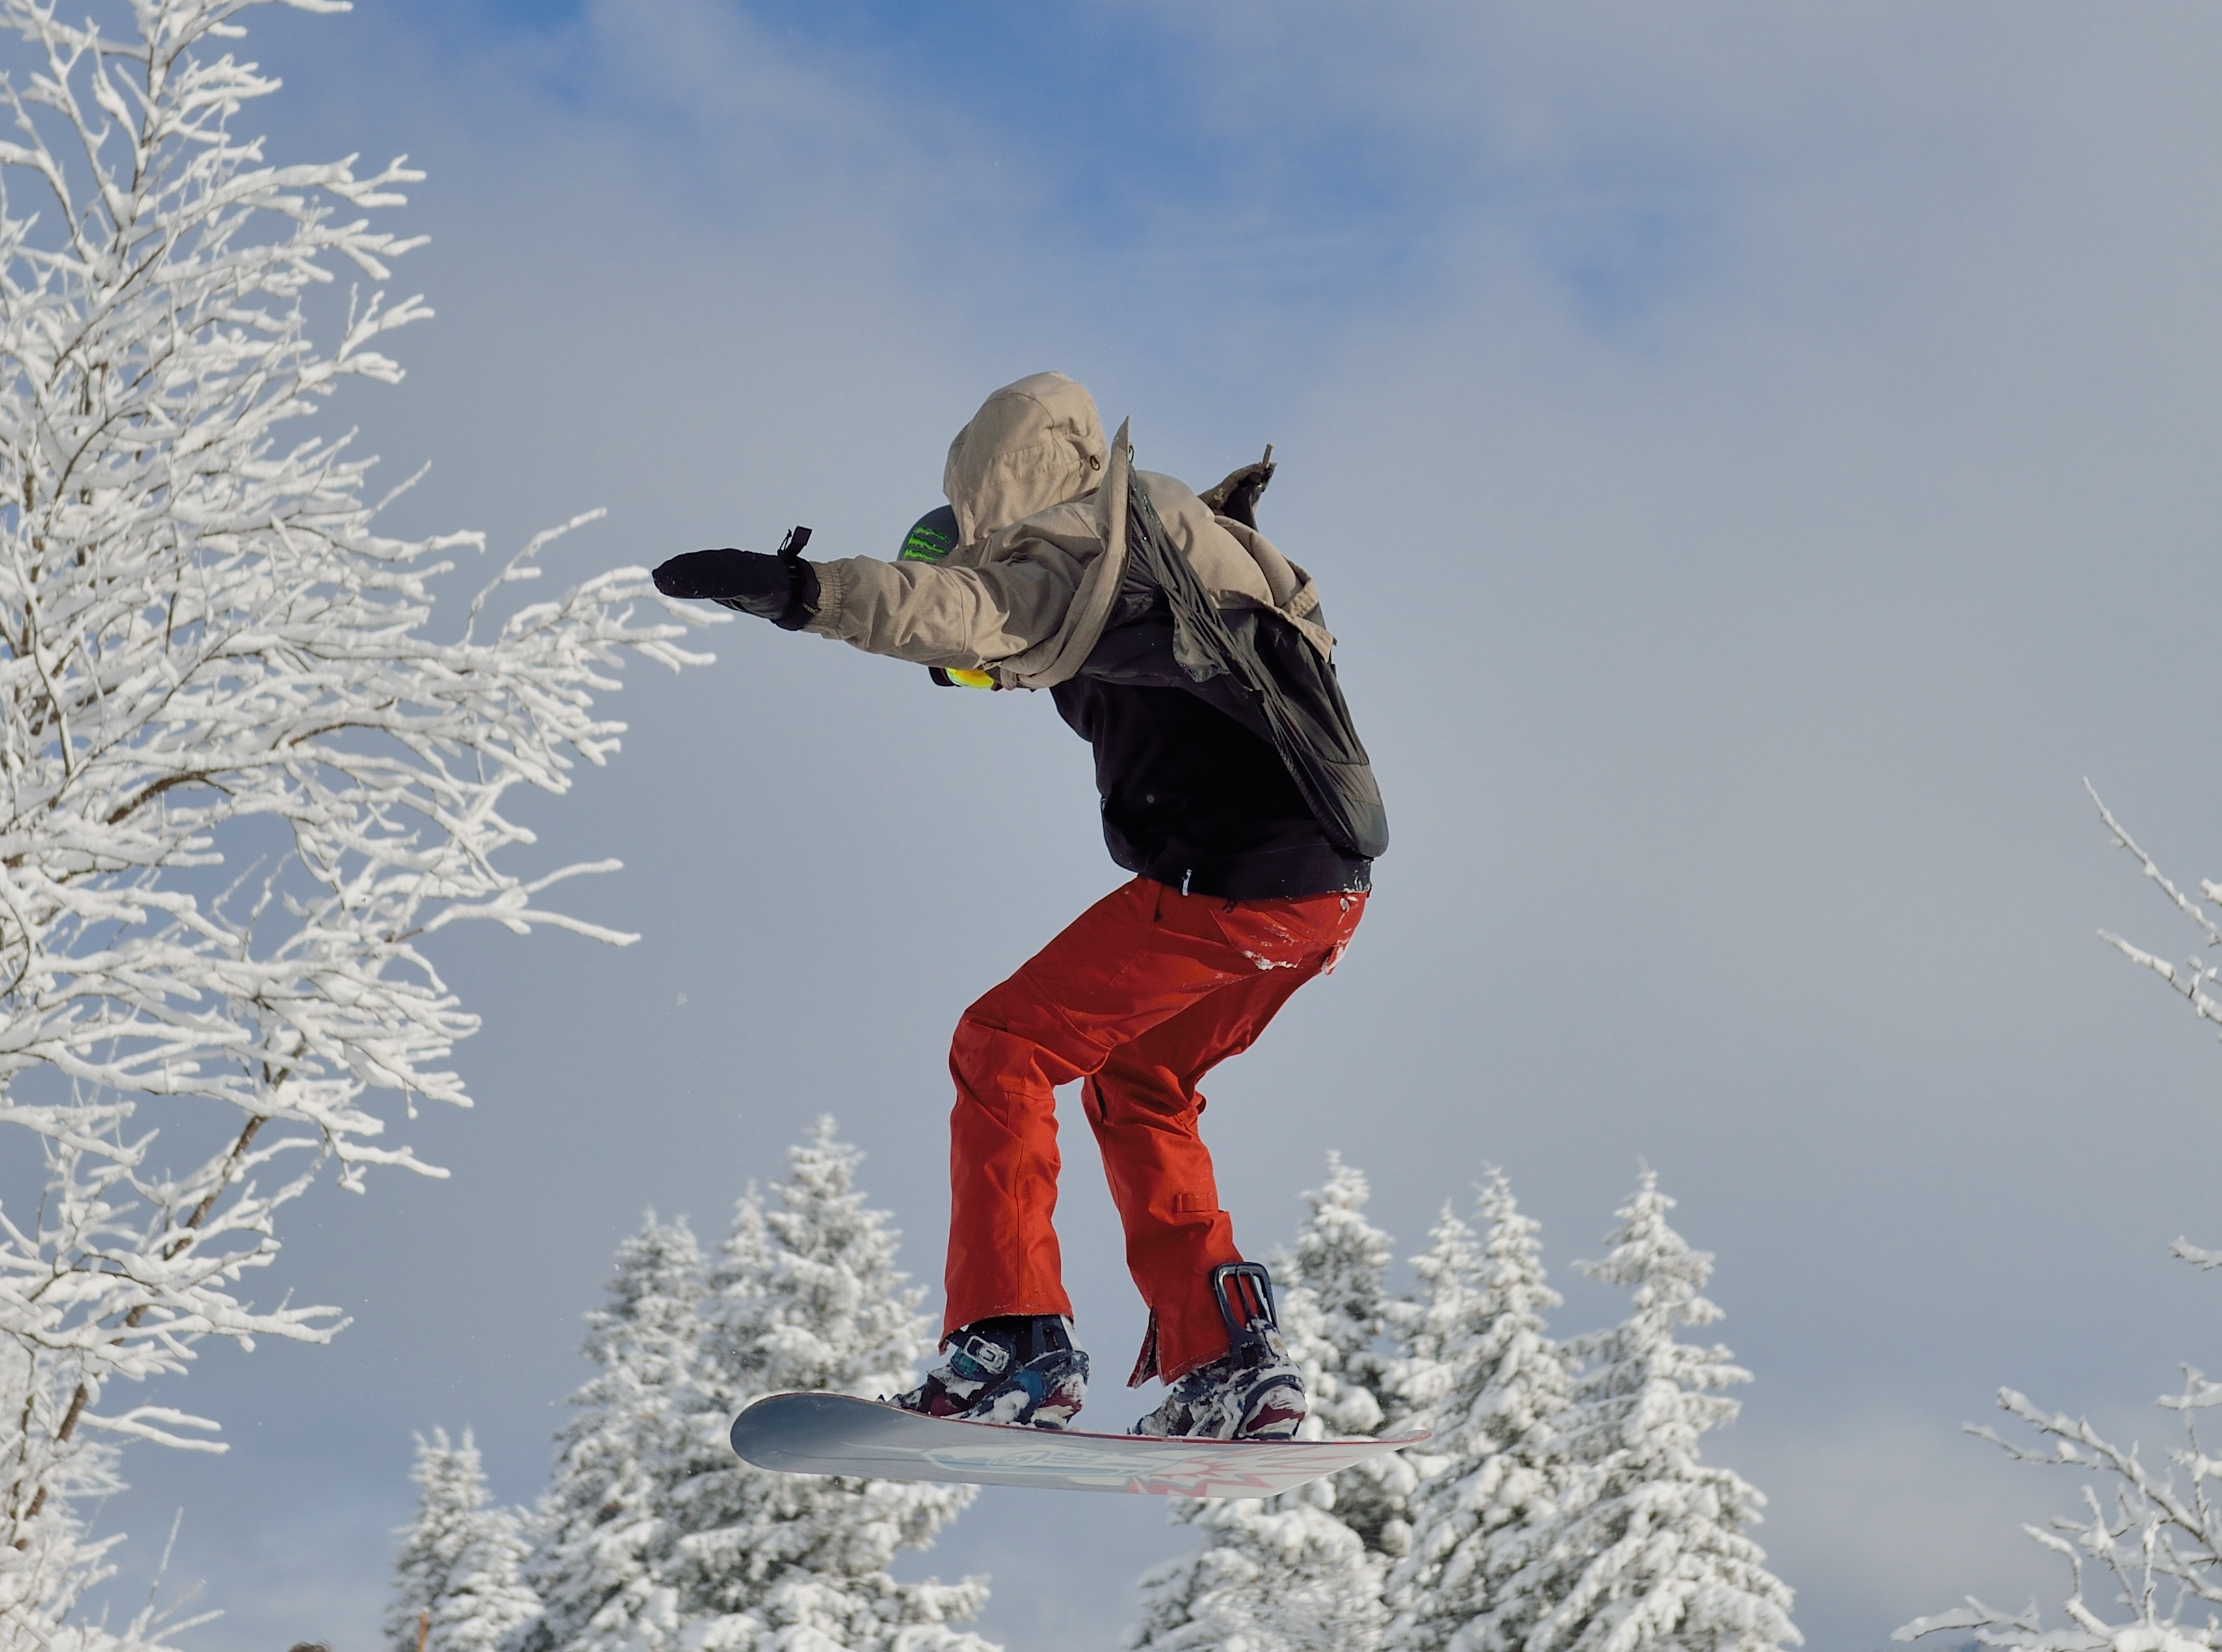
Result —
POLYGON ((1329 657, 1302 568, 1169 475, 1133 469, 1127 426, 1104 446, 1095 400, 1062 373, 995 391, 949 444, 958 515, 947 560, 818 566, 809 631, 922 666, 987 671, 1004 688, 1080 673, 1127 568, 1127 488, 1140 482, 1220 608, 1273 608, 1329 657))

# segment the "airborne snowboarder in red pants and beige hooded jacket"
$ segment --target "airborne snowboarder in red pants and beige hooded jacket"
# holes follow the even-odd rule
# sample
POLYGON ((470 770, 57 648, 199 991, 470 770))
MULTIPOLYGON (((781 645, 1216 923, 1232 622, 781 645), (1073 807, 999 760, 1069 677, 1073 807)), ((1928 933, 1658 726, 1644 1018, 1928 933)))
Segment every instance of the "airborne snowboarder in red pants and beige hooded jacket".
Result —
POLYGON ((1135 873, 964 1010, 949 1052, 942 1363, 895 1403, 1062 1428, 1087 1392, 1060 1279, 1055 1086, 1082 1101, 1149 1303, 1138 1434, 1284 1439, 1304 1386, 1271 1283, 1235 1250, 1198 1081, 1247 1050, 1364 913, 1389 833, 1311 577, 1258 533, 1273 451, 1207 495, 1104 444, 1087 389, 1035 373, 949 446, 949 504, 893 562, 693 551, 655 586, 911 659, 940 684, 1049 688, 1095 748, 1104 839, 1135 873))

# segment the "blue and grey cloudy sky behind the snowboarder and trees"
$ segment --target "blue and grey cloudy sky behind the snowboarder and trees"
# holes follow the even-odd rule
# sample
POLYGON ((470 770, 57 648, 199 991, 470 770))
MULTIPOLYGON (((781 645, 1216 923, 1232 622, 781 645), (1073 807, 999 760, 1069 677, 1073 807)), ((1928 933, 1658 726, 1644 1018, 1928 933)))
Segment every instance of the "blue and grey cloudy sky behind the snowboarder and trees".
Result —
MULTIPOLYGON (((1498 1164, 1562 1332, 1651 1166, 1755 1381, 1706 1441, 1815 1652, 1964 1594, 2058 1616, 2022 1534, 2073 1479, 1960 1432, 2000 1386, 2158 1441, 2213 1366, 2222 1050, 2095 935, 2195 933, 2222 435, 2209 7, 1307 0, 364 0, 251 13, 273 160, 409 153, 431 235, 393 389, 336 429, 393 531, 551 575, 702 544, 889 555, 998 384, 1060 369, 1322 586, 1393 846, 1333 979, 1213 1084, 1238 1237, 1340 1150, 1424 1243, 1498 1164), (491 553, 489 553, 491 555, 491 553)), ((624 753, 527 810, 573 910, 456 935, 478 1106, 447 1181, 291 1210, 273 1297, 329 1348, 202 1348, 142 1450, 144 1590, 209 1652, 378 1636, 411 1432, 544 1483, 580 1314, 647 1208, 718 1237, 820 1112, 935 1288, 958 1013, 1120 882, 1084 746, 1024 695, 755 624, 627 673, 624 753)), ((1115 1381, 1142 1312, 1093 1157, 1060 1212, 1115 1381)), ((938 1306, 929 1303, 929 1306, 938 1306)), ((907 1574, 1104 1652, 1178 1554, 1147 1499, 989 1490, 907 1574), (1047 1501, 1044 1501, 1047 1497, 1047 1501), (1075 1559, 1084 1557, 1084 1559, 1075 1559)), ((133 1570, 136 1568, 136 1570, 133 1570)), ((122 1588, 120 1583, 118 1588, 122 1588)), ((1051 1636, 1055 1636, 1051 1641, 1051 1636)))

